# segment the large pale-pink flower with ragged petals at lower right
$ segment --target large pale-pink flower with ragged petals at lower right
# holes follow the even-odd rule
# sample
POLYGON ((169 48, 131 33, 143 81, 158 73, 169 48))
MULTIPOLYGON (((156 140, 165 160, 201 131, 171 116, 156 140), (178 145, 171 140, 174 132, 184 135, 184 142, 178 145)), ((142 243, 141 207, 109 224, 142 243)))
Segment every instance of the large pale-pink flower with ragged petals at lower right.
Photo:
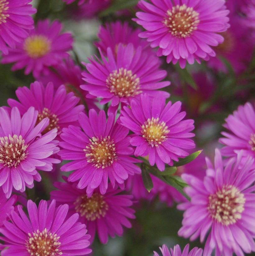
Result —
POLYGON ((206 176, 203 181, 197 177, 183 174, 182 178, 189 187, 184 191, 191 201, 180 204, 185 210, 183 226, 178 234, 191 240, 200 235, 206 239, 204 255, 238 256, 255 251, 253 240, 255 230, 255 170, 254 159, 246 159, 241 165, 242 152, 237 158, 229 159, 224 167, 220 151, 215 150, 214 166, 206 158, 206 176))

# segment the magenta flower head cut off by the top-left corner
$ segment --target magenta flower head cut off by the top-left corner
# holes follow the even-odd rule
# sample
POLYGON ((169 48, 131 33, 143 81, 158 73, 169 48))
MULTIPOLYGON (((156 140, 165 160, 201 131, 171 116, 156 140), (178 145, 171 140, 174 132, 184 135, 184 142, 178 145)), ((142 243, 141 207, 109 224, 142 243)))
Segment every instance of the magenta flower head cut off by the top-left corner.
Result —
POLYGON ((32 0, 0 0, 0 51, 8 54, 8 46, 15 48, 28 36, 34 28, 34 20, 30 16, 36 12, 32 8, 32 0))

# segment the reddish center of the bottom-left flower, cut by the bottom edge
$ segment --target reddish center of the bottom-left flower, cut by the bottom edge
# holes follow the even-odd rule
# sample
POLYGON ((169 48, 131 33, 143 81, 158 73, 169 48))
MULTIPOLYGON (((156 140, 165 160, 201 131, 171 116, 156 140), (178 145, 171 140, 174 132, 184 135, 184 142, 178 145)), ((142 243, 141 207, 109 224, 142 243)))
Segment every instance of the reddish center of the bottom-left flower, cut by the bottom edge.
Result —
POLYGON ((57 234, 51 233, 46 228, 33 234, 28 233, 26 249, 31 256, 60 256, 63 253, 59 250, 60 242, 57 234))

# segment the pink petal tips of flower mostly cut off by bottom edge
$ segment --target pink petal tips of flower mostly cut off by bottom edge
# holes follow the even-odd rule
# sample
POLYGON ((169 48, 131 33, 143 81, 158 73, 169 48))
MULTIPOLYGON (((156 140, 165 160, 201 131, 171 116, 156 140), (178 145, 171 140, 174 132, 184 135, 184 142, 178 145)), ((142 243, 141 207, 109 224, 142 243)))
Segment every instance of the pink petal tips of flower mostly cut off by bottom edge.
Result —
MULTIPOLYGON (((203 250, 198 247, 193 248, 190 252, 188 252, 188 250, 189 244, 184 247, 183 251, 181 250, 179 244, 176 244, 174 249, 170 248, 171 253, 165 244, 163 244, 162 248, 160 247, 162 256, 202 256, 203 254, 203 250)), ((154 256, 159 256, 159 254, 154 251, 154 256)))

